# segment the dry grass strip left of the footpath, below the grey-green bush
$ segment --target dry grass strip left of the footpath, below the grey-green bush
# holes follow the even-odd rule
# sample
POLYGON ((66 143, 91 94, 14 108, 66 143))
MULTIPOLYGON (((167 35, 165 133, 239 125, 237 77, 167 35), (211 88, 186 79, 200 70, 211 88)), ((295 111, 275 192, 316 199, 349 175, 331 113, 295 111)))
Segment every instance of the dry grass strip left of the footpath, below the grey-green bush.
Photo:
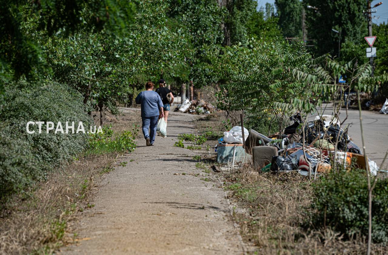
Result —
MULTIPOLYGON (((104 121, 116 132, 129 130, 134 123, 139 125, 140 112, 126 111, 118 118, 107 115, 104 121)), ((88 200, 118 156, 91 155, 64 164, 34 191, 14 197, 7 210, 0 212, 0 254, 50 254, 73 242, 76 235, 68 222, 75 212, 93 206, 88 200)))

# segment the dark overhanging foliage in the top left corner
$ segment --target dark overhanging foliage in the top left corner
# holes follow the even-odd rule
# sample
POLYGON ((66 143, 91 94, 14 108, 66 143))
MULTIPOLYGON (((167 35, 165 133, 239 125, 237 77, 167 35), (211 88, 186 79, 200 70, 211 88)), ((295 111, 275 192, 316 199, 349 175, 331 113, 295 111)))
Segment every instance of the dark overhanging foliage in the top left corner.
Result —
POLYGON ((33 69, 42 71, 42 51, 39 43, 31 38, 28 23, 46 36, 58 31, 70 33, 83 29, 97 29, 109 34, 121 34, 128 22, 133 21, 135 5, 125 0, 46 0, 2 1, 0 10, 0 74, 31 78, 33 69), (27 24, 26 24, 27 23, 27 24))

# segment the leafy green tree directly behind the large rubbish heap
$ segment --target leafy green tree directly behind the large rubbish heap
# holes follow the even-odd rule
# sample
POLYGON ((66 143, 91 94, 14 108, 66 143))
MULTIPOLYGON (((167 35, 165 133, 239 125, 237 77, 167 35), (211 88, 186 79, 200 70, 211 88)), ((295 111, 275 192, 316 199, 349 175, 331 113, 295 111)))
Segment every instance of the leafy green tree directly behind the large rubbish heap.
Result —
POLYGON ((300 43, 267 38, 252 38, 248 43, 248 47, 225 47, 208 53, 219 77, 218 108, 244 109, 256 118, 269 114, 281 117, 285 112, 274 107, 275 101, 288 102, 293 96, 308 101, 308 83, 294 78, 290 70, 301 68, 314 74, 321 58, 313 60, 300 43))

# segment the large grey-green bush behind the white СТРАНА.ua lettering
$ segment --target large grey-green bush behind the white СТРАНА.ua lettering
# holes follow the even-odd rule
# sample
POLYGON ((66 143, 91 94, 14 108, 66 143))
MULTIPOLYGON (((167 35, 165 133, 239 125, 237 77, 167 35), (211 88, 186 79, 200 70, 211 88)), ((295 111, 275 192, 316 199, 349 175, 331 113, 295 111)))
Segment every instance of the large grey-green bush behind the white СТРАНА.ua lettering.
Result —
MULTIPOLYGON (((5 85, 0 98, 0 200, 12 193, 26 190, 63 161, 71 159, 87 146, 87 134, 54 133, 57 122, 74 121, 74 130, 82 121, 85 132, 93 123, 87 115, 82 98, 61 84, 44 80, 29 84, 25 81, 5 85), (28 121, 54 122, 54 130, 38 133, 38 125, 28 121)), ((65 127, 64 127, 65 128, 65 127)))

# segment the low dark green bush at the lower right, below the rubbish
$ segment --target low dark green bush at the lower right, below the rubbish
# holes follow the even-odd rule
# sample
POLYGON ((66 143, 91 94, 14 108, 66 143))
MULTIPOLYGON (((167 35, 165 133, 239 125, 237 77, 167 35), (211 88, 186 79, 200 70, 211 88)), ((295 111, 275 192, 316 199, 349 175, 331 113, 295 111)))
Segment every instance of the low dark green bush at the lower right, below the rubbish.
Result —
MULTIPOLYGON (((326 224, 349 237, 352 234, 368 235, 365 170, 331 173, 313 185, 313 226, 322 228, 326 224)), ((373 191, 372 239, 378 243, 388 241, 388 178, 379 179, 373 191)))

